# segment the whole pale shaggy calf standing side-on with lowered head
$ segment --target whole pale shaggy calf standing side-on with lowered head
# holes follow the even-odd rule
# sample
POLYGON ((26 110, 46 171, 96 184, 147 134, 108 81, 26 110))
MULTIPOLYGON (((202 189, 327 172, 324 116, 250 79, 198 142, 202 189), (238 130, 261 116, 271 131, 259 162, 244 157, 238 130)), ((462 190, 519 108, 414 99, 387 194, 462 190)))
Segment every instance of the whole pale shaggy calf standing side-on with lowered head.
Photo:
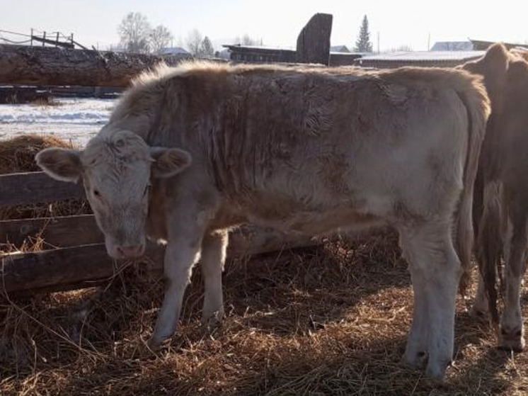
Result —
POLYGON ((153 346, 176 330, 200 254, 203 315, 222 315, 228 227, 396 227, 415 293, 404 358, 417 366, 427 352, 427 374, 442 378, 487 116, 485 89, 464 71, 187 64, 139 77, 84 151, 37 160, 84 181, 111 256, 142 254, 145 230, 167 241, 153 346))

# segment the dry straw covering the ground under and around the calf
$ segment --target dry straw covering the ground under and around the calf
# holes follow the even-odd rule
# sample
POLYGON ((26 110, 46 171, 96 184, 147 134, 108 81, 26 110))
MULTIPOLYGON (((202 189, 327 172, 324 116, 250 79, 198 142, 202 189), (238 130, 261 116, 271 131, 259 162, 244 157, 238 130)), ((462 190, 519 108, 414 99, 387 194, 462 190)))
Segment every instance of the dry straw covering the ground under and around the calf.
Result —
MULTIPOLYGON (((525 395, 528 361, 494 348, 457 305, 457 361, 446 385, 398 364, 412 294, 394 234, 233 261, 227 317, 200 324, 200 271, 178 335, 144 348, 159 279, 128 268, 105 291, 5 300, 1 395, 525 395)), ((525 312, 526 314, 526 312, 525 312)))

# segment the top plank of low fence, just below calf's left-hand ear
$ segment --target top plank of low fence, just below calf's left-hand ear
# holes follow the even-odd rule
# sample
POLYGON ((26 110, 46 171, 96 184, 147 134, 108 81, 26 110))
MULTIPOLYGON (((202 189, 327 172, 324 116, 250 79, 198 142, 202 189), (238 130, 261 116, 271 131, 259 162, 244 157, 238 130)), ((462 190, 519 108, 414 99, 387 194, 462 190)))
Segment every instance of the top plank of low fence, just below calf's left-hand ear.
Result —
POLYGON ((81 183, 57 181, 44 172, 0 175, 0 205, 28 205, 84 198, 81 183))

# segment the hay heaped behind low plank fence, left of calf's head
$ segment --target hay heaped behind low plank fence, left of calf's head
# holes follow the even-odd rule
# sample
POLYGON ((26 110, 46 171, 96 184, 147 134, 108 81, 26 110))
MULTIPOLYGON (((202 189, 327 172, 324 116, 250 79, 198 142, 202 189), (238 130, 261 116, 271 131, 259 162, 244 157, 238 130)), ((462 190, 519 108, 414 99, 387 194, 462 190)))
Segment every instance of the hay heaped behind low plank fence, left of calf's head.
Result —
MULTIPOLYGON (((0 140, 0 174, 40 171, 35 154, 47 147, 72 148, 71 143, 57 137, 25 135, 0 140)), ((0 220, 32 217, 54 217, 90 213, 84 200, 69 200, 35 205, 0 206, 0 220)))

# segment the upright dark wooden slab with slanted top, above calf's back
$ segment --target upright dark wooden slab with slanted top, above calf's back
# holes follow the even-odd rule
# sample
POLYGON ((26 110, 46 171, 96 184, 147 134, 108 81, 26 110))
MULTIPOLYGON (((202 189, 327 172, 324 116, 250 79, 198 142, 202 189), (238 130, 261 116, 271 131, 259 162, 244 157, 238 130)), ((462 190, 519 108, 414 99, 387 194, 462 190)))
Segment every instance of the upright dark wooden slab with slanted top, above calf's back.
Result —
POLYGON ((297 62, 330 64, 330 35, 333 16, 316 13, 297 38, 297 62))

